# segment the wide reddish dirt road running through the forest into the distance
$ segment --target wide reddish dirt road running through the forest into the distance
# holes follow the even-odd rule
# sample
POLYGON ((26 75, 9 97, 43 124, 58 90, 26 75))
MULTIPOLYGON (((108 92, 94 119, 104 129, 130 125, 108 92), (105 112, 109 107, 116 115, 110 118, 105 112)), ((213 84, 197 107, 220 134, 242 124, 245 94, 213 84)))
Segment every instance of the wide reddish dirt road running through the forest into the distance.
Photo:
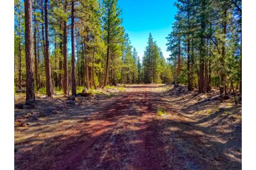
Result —
MULTIPOLYGON (((51 118, 50 123, 47 120, 47 133, 61 133, 44 139, 39 138, 40 130, 44 130, 44 123, 40 124, 39 120, 37 126, 42 127, 38 134, 27 142, 17 144, 20 149, 15 153, 16 169, 240 169, 240 155, 233 152, 240 149, 239 144, 229 147, 217 142, 219 132, 212 130, 212 127, 199 127, 195 119, 188 120, 181 116, 181 110, 173 110, 180 109, 178 105, 166 106, 168 115, 175 118, 162 118, 156 114, 155 104, 163 102, 163 97, 166 97, 155 91, 158 86, 133 85, 127 88, 127 92, 119 93, 92 108, 74 106, 60 117, 51 118), (50 127, 59 119, 64 121, 56 127, 50 127), (225 149, 235 155, 235 158, 224 153, 225 149), (206 154, 206 157, 203 156, 206 154)), ((29 134, 29 127, 23 130, 29 134)), ((238 135, 239 133, 236 132, 238 135)))

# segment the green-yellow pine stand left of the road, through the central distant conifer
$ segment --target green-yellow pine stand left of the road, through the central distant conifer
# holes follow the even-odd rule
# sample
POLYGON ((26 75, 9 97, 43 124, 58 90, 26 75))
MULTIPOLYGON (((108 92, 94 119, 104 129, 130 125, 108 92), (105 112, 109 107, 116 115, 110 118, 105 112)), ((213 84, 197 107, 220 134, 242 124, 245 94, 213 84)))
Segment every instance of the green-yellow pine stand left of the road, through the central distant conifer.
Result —
POLYGON ((121 26, 117 1, 35 0, 31 5, 33 50, 28 68, 25 8, 15 1, 15 87, 30 85, 27 93, 32 95, 27 100, 34 100, 33 93, 38 91, 48 97, 55 91, 75 96, 77 86, 97 89, 118 83, 172 81, 171 64, 151 34, 143 61, 139 59, 121 26))

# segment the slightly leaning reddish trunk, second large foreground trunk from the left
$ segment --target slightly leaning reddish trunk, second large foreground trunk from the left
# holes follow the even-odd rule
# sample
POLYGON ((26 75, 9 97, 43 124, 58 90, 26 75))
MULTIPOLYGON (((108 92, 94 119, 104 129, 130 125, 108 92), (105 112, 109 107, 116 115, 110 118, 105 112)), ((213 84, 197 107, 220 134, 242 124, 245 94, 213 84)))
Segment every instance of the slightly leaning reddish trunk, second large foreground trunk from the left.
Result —
POLYGON ((46 95, 48 97, 53 97, 53 85, 51 79, 51 66, 50 66, 50 57, 49 57, 49 41, 48 41, 48 16, 47 9, 48 0, 45 0, 45 74, 46 74, 46 95))

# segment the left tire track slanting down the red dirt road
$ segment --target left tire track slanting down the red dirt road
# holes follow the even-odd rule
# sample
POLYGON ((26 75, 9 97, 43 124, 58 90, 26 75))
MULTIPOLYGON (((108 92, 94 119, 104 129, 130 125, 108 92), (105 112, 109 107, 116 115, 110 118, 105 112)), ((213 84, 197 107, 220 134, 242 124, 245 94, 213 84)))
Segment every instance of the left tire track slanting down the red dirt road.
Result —
MULTIPOLYGON (((94 126, 100 126, 101 128, 93 132, 89 138, 84 140, 84 142, 76 144, 76 148, 73 148, 71 153, 68 153, 68 155, 66 155, 61 161, 55 163, 53 170, 77 169, 81 166, 83 158, 90 154, 90 149, 94 144, 107 142, 110 139, 111 131, 113 131, 113 129, 109 129, 109 127, 115 127, 118 123, 114 121, 115 117, 123 114, 123 111, 119 112, 118 110, 126 111, 129 109, 129 103, 124 105, 122 104, 122 101, 129 100, 130 96, 134 95, 136 91, 137 88, 133 89, 131 92, 121 94, 120 98, 112 102, 107 106, 107 108, 105 108, 105 110, 97 111, 97 115, 103 115, 101 118, 103 119, 103 123, 101 125, 94 126), (116 104, 118 102, 121 102, 121 104, 116 104)), ((97 162, 91 162, 91 164, 95 165, 97 162)))

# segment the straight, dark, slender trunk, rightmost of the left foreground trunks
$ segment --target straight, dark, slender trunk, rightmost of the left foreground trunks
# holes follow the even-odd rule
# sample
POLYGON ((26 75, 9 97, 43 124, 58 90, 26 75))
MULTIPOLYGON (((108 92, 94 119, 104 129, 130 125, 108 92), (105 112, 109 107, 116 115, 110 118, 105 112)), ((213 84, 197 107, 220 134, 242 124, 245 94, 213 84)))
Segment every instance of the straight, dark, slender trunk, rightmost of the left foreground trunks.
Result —
POLYGON ((76 96, 76 85, 75 85, 75 43, 74 43, 74 0, 71 1, 71 52, 72 52, 72 95, 76 96))

